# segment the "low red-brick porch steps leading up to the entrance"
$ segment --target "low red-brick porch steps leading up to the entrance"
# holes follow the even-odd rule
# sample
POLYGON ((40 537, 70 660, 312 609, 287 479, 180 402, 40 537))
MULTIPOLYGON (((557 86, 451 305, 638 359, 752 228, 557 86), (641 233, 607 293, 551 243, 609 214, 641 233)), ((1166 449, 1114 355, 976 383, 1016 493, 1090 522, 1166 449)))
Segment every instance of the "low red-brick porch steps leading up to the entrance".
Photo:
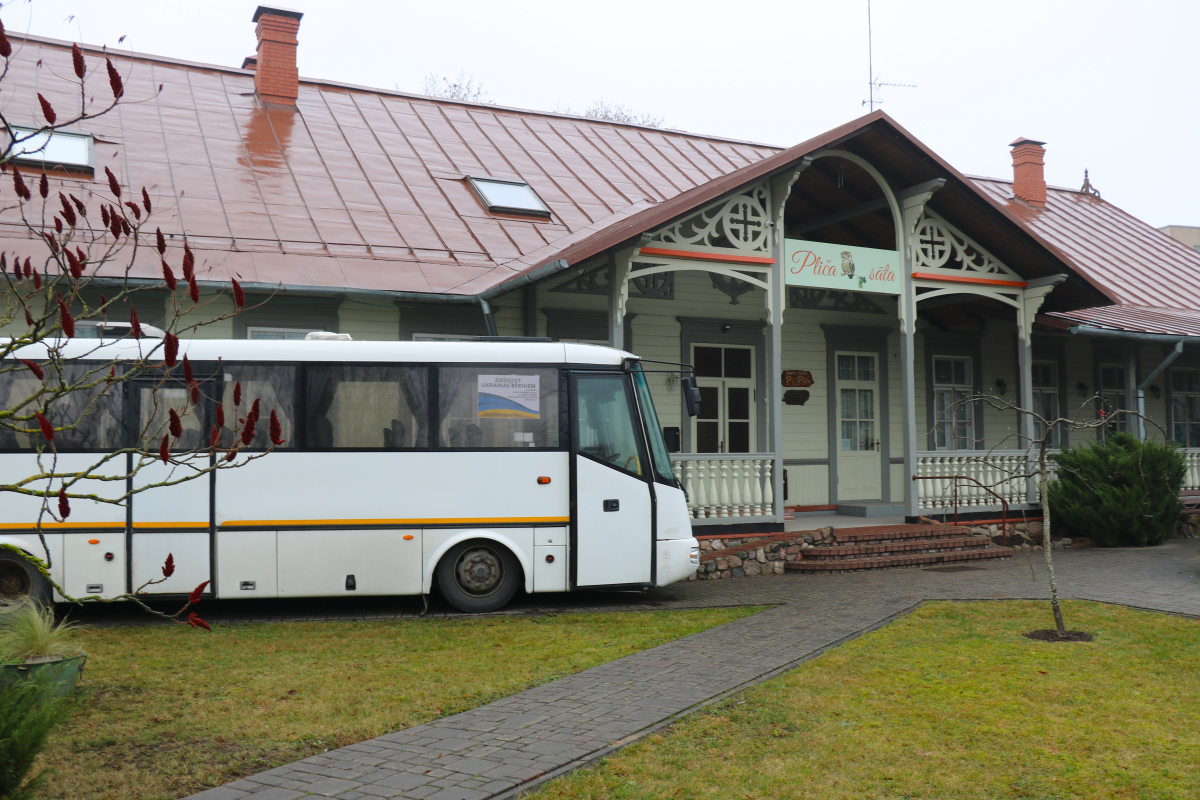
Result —
POLYGON ((961 525, 874 525, 835 530, 834 545, 802 549, 784 570, 802 575, 858 572, 1010 558, 986 536, 961 525))

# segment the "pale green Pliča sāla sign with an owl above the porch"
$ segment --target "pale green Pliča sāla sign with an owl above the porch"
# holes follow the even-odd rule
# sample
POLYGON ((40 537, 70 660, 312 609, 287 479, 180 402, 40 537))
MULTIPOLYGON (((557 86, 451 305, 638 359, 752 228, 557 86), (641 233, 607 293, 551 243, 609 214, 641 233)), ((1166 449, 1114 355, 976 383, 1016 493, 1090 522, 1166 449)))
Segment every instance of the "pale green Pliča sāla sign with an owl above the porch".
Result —
POLYGON ((784 283, 790 287, 900 294, 900 253, 894 249, 784 240, 784 283))

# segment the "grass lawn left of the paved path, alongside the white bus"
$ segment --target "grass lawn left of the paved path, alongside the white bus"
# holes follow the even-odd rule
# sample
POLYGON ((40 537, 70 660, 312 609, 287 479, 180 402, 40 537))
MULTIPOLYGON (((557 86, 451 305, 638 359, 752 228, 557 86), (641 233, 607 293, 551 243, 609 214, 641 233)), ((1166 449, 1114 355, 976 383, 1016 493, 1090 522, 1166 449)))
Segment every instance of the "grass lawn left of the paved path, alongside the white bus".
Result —
POLYGON ((755 610, 94 630, 40 796, 179 798, 755 610))

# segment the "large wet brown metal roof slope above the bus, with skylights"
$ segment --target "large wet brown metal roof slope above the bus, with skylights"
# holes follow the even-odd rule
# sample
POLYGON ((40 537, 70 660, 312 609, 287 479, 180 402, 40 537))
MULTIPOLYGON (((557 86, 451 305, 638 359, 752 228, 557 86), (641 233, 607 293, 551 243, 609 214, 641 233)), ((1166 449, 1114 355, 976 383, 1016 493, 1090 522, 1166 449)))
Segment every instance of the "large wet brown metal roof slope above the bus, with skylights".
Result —
MULTIPOLYGON (((96 137, 96 174, 146 186, 154 223, 173 243, 186 234, 206 279, 470 294, 775 151, 304 79, 294 110, 264 108, 252 72, 113 58, 125 101, 80 126, 96 137), (467 175, 524 181, 552 216, 490 213, 467 175)), ((58 76, 71 76, 70 43, 25 40, 6 79, 8 119, 37 125, 36 92, 60 115, 77 106, 58 76)), ((107 96, 103 72, 92 80, 107 96)), ((0 239, 36 249, 11 213, 0 239)), ((134 276, 161 275, 150 255, 134 276)))

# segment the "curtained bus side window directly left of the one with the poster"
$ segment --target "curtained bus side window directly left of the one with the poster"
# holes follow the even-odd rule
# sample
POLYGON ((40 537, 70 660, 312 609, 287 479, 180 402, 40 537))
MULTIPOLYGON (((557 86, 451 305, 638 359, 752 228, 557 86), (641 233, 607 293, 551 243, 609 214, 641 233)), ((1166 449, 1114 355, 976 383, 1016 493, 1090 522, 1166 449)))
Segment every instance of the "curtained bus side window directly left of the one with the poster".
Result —
POLYGON ((306 371, 308 446, 428 446, 428 367, 318 365, 306 371))

